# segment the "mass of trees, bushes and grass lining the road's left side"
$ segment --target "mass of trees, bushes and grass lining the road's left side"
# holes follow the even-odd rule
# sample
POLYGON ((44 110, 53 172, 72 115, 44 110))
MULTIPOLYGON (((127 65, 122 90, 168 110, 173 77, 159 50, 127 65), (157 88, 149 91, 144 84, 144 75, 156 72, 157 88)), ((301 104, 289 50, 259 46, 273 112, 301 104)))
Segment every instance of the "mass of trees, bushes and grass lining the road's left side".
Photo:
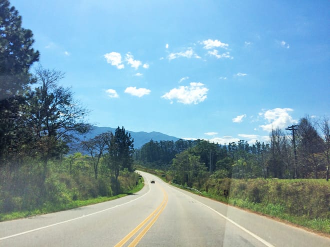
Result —
POLYGON ((79 207, 141 187, 125 129, 78 142, 88 109, 60 85, 64 73, 31 66, 31 30, 0 0, 0 220, 79 207), (74 154, 74 147, 82 147, 74 154))

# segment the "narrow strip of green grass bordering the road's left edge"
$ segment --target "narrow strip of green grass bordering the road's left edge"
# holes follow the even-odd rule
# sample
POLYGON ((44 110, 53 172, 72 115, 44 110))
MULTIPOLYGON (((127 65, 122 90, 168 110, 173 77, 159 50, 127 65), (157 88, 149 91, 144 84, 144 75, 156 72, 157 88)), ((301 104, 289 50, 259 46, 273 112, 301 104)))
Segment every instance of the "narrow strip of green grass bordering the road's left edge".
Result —
POLYGON ((10 221, 10 220, 16 220, 16 219, 21 219, 21 218, 26 218, 26 217, 31 217, 31 216, 36 216, 36 215, 42 215, 42 214, 48 214, 48 213, 53 213, 53 212, 58 212, 58 211, 63 211, 63 210, 69 210, 69 209, 75 209, 83 206, 88 206, 92 204, 97 204, 97 203, 103 203, 111 200, 115 200, 121 197, 125 197, 127 195, 134 194, 138 191, 140 191, 144 186, 144 181, 143 178, 140 181, 140 183, 137 184, 135 188, 132 190, 129 190, 123 194, 115 195, 112 197, 97 197, 97 198, 92 198, 88 200, 76 200, 69 202, 64 205, 47 205, 45 204, 42 208, 39 209, 34 209, 31 211, 20 211, 20 212, 12 212, 8 214, 0 214, 0 222, 2 221, 10 221))

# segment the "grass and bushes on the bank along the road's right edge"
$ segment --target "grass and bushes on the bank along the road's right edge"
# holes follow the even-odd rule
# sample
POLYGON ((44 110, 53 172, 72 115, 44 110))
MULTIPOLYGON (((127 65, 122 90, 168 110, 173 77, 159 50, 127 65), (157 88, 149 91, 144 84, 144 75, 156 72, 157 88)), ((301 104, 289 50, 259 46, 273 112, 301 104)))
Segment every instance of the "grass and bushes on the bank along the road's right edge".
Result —
MULTIPOLYGON (((145 167, 138 169, 185 189, 182 185, 171 182, 171 171, 145 167)), ((330 186, 326 180, 231 179, 209 176, 202 186, 194 184, 191 188, 201 192, 199 194, 189 190, 197 195, 330 236, 330 186), (224 190, 228 191, 227 199, 224 190)))

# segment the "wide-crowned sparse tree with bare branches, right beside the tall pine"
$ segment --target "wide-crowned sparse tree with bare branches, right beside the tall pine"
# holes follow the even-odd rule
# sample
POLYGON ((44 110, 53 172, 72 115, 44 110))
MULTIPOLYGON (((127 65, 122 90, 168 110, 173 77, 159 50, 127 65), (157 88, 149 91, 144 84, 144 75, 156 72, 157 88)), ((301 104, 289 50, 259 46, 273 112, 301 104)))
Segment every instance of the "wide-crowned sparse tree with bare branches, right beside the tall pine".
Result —
POLYGON ((29 126, 33 129, 34 155, 44 164, 46 176, 47 161, 68 151, 67 144, 76 134, 90 130, 84 122, 88 111, 73 99, 70 88, 58 85, 64 74, 57 70, 36 69, 39 87, 29 94, 29 126))

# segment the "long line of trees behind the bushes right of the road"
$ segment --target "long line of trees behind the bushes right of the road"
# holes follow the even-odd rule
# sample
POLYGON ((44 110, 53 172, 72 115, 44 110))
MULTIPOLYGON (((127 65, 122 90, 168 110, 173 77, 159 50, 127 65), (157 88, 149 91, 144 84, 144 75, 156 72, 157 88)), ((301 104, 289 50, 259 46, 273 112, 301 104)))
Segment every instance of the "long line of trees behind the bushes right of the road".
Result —
POLYGON ((330 133, 327 118, 308 116, 290 132, 276 128, 267 143, 221 145, 207 140, 150 140, 135 151, 138 164, 170 172, 180 184, 200 184, 208 176, 217 178, 325 178, 329 173, 330 133))

